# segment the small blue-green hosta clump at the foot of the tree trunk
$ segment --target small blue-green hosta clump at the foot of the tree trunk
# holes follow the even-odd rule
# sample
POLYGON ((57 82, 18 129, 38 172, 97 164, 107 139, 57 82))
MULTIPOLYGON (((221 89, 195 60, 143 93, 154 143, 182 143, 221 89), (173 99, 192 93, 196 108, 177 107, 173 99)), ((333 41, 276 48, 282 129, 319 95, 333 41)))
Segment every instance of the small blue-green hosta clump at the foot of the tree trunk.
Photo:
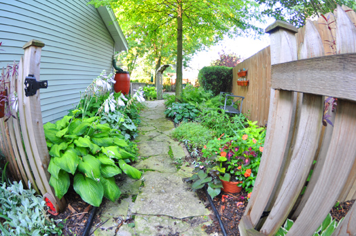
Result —
POLYGON ((167 110, 165 110, 165 115, 171 119, 174 119, 175 123, 180 123, 180 121, 191 121, 196 119, 199 114, 199 110, 195 106, 190 104, 176 104, 173 103, 167 110))

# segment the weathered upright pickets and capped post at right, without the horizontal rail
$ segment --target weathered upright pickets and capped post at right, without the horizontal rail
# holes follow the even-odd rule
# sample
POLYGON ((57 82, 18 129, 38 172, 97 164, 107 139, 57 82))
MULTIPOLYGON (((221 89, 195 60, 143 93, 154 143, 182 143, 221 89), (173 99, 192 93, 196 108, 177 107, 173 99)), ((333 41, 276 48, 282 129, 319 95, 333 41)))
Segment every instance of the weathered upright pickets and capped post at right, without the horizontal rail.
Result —
MULTIPOLYGON (((340 194, 355 196, 356 27, 338 7, 337 55, 323 57, 324 42, 308 21, 298 60, 297 29, 277 22, 266 31, 272 63, 269 124, 240 233, 274 235, 290 218, 294 224, 287 235, 313 235, 340 194), (324 96, 338 100, 334 127, 327 126, 317 152, 324 96), (314 171, 301 195, 315 155, 314 171), (270 213, 261 219, 264 211, 270 213)), ((356 235, 356 204, 332 235, 356 235)))

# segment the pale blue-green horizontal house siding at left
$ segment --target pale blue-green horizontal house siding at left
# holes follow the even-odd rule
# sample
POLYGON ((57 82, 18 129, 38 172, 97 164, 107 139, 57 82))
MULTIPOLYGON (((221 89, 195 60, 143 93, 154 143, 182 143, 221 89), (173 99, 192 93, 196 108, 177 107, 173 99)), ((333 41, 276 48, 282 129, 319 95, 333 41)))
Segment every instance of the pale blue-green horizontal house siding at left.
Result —
POLYGON ((41 110, 44 123, 67 115, 80 92, 100 75, 112 72, 114 41, 100 14, 86 0, 0 0, 0 67, 19 61, 31 39, 41 52, 41 110))

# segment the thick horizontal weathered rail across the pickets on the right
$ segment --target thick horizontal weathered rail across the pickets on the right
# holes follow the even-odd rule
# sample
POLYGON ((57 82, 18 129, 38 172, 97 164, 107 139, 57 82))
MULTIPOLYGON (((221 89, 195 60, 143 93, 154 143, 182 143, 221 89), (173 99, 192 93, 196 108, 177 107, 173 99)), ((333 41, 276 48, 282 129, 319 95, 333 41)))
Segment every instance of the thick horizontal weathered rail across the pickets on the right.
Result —
POLYGON ((356 53, 272 66, 272 88, 356 101, 356 53))

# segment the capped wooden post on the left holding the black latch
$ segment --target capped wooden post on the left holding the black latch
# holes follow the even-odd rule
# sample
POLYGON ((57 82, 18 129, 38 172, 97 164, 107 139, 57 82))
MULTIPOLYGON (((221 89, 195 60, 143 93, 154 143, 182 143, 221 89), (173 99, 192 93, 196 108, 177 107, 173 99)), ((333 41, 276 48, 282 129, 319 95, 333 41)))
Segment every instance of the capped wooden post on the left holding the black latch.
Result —
POLYGON ((48 183, 50 173, 48 173, 47 169, 50 156, 48 154, 46 138, 44 137, 39 90, 37 90, 36 95, 29 97, 24 95, 24 81, 26 77, 34 75, 36 80, 39 81, 39 66, 41 63, 42 47, 44 47, 44 43, 34 39, 28 41, 28 43, 23 46, 25 50, 24 63, 22 66, 22 76, 19 76, 18 83, 19 99, 23 99, 23 103, 21 103, 23 106, 19 108, 19 112, 21 131, 24 139, 27 139, 26 141, 24 140, 25 143, 27 143, 26 153, 32 153, 32 155, 28 156, 28 159, 30 161, 32 171, 37 172, 37 177, 35 174, 35 179, 36 181, 41 181, 42 188, 39 188, 41 190, 41 194, 48 196, 48 199, 52 201, 55 210, 58 212, 64 208, 65 201, 64 199, 60 201, 57 197, 55 197, 55 191, 48 183))

